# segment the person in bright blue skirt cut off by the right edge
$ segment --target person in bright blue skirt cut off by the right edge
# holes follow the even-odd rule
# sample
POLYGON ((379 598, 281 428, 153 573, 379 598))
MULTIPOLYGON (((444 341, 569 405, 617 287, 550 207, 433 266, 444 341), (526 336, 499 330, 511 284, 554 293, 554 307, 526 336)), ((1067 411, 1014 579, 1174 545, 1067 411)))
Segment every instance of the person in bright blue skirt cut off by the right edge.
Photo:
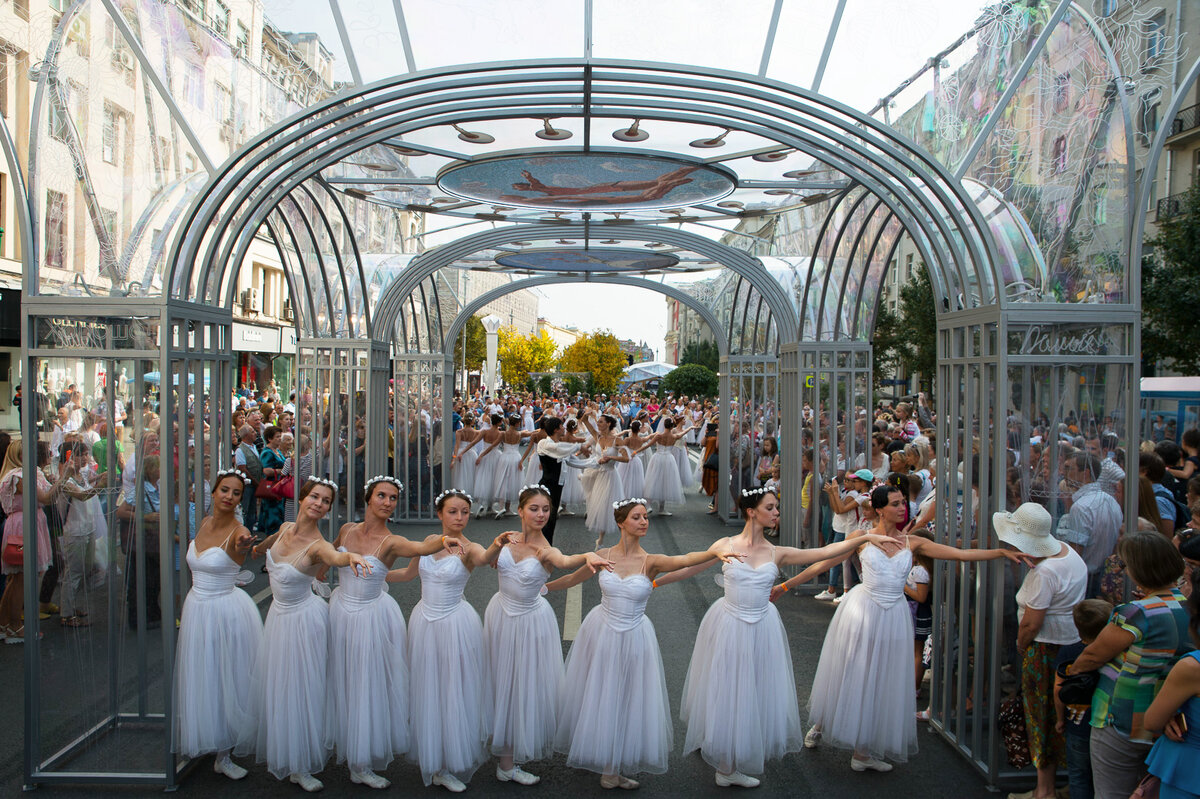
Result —
MULTIPOLYGON (((1200 647, 1200 585, 1195 581, 1187 607, 1192 617, 1188 633, 1200 647)), ((1151 732, 1165 729, 1146 758, 1150 773, 1162 781, 1159 799, 1200 797, 1200 649, 1193 649, 1171 668, 1146 710, 1145 723, 1151 732)))

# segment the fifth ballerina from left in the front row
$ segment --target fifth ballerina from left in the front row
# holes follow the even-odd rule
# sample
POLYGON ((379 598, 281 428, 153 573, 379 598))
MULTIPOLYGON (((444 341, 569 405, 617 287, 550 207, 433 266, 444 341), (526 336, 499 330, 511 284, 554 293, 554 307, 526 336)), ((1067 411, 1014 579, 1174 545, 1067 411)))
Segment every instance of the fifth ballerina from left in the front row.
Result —
POLYGON ((500 590, 484 614, 484 638, 491 663, 492 753, 499 756, 496 779, 535 785, 540 777, 520 764, 551 756, 557 728, 563 650, 558 620, 540 595, 553 569, 612 569, 594 552, 565 555, 550 545, 542 528, 550 521, 545 486, 521 489, 521 533, 497 558, 500 590))

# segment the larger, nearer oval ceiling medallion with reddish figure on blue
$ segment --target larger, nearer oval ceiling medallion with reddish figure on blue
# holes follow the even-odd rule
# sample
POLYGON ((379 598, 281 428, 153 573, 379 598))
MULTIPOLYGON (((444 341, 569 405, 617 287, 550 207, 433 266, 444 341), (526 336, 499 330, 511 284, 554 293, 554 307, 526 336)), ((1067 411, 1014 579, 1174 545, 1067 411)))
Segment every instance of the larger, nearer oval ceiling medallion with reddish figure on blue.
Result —
POLYGON ((694 161, 616 152, 539 152, 455 164, 438 176, 449 194, 480 203, 576 211, 708 203, 737 187, 727 170, 694 161))

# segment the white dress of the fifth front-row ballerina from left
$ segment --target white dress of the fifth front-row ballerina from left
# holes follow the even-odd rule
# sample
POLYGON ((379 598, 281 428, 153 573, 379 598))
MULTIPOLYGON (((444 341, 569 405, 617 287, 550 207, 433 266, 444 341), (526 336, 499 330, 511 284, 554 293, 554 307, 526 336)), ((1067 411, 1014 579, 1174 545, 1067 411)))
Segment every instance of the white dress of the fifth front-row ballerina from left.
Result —
POLYGON ((500 590, 484 613, 491 666, 492 752, 517 763, 540 761, 554 750, 563 644, 558 619, 541 588, 548 573, 535 557, 512 559, 504 547, 496 561, 500 590))

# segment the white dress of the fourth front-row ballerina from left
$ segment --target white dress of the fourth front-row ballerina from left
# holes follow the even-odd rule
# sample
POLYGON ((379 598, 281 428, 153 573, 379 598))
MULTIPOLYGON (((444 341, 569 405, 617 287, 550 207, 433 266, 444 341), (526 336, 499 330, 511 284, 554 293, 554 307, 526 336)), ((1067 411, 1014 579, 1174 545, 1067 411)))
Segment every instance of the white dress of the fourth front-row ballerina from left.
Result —
POLYGON ((412 749, 428 786, 449 773, 470 780, 487 759, 492 697, 484 625, 462 597, 470 571, 457 555, 420 560, 421 601, 409 617, 412 749))

